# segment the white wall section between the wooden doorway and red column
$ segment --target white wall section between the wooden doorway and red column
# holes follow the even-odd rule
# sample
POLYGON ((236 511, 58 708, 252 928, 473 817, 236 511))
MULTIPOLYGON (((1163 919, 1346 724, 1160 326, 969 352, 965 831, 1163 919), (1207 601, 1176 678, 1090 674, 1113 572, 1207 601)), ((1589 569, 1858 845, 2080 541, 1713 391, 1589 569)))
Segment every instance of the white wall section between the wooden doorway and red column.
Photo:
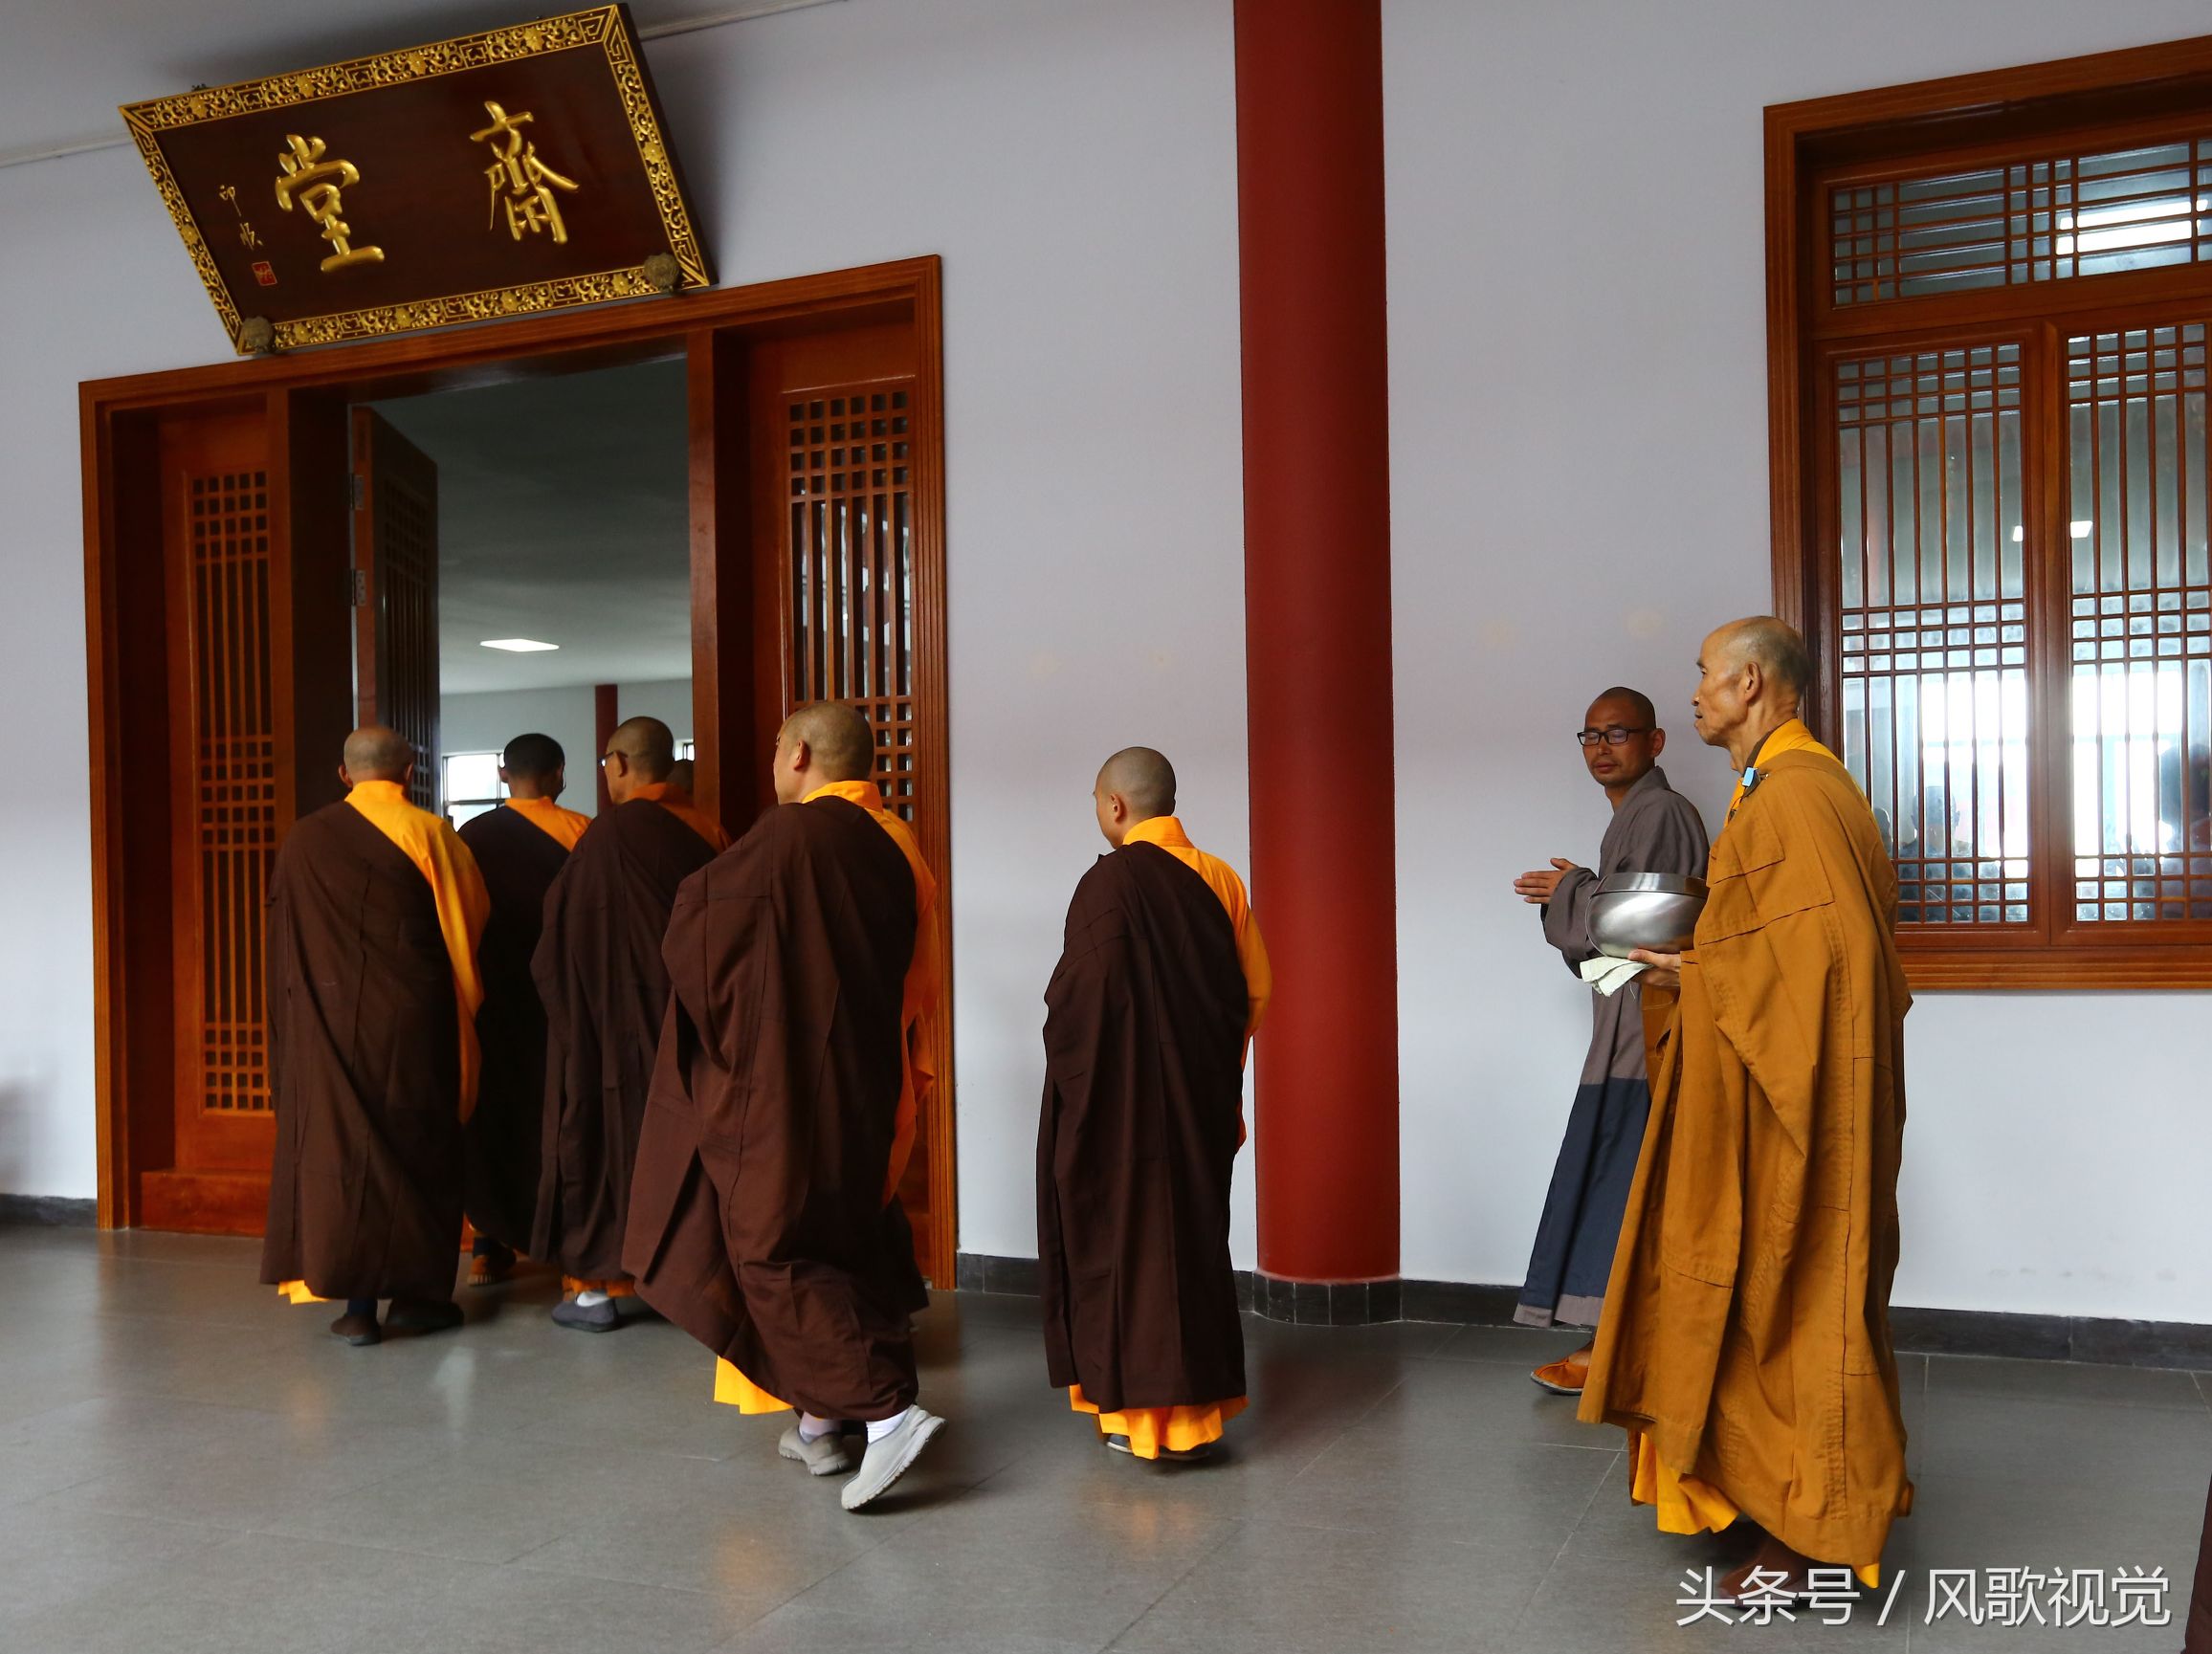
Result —
POLYGON ((1099 761, 1164 747, 1245 862, 1230 4, 849 0, 653 75, 723 281, 945 254, 960 1247, 1035 1254, 1099 761))

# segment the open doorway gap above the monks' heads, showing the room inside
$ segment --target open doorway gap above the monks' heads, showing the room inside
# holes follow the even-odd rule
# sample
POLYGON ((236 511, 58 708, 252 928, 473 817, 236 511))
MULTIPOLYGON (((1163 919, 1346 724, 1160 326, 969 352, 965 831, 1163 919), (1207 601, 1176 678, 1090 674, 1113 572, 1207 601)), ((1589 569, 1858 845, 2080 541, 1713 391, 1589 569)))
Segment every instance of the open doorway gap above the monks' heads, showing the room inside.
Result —
POLYGON ((372 402, 356 409, 354 453, 354 566, 369 586, 358 719, 396 723, 422 750, 416 803, 456 827, 495 809, 500 752, 526 732, 560 741, 562 805, 586 816, 604 807, 595 774, 613 723, 655 716, 692 756, 681 356, 372 402), (425 522, 429 635, 407 615, 425 522))

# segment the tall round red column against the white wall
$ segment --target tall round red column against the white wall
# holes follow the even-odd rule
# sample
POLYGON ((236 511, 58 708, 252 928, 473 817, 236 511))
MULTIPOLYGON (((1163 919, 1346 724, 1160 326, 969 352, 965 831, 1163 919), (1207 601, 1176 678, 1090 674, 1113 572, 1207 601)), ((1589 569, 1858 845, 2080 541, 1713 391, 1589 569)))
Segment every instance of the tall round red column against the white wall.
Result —
POLYGON ((1237 0, 1259 1267, 1398 1274, 1378 0, 1237 0))

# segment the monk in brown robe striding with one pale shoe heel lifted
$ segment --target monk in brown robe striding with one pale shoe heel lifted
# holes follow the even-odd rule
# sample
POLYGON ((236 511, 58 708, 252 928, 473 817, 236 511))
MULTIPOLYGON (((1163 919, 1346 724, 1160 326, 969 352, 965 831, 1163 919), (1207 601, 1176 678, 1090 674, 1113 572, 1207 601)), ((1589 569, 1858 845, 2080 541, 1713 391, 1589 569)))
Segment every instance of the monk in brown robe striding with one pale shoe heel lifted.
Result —
POLYGON ((776 736, 779 807, 677 896, 624 1254, 646 1302, 721 1358, 719 1395, 799 1413, 785 1459, 845 1470, 845 1428, 865 1426, 847 1510, 945 1424, 916 1400, 929 1296, 898 1203, 936 882, 874 767, 867 719, 801 708, 776 736))

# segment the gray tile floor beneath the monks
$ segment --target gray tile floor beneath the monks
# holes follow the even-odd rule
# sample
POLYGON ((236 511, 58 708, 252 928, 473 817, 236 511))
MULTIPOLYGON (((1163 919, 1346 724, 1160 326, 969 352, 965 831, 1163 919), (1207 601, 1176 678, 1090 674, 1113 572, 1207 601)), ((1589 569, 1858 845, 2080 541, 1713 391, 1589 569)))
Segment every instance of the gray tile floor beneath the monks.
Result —
POLYGON ((942 1298, 951 1426, 849 1517, 675 1329, 564 1333, 544 1276, 462 1298, 354 1351, 250 1243, 0 1229, 0 1650, 2170 1654, 2212 1477, 2190 1373, 1907 1358, 1891 1621, 1679 1630, 1739 1541, 1655 1532, 1619 1437, 1526 1380, 1573 1336, 1250 1322, 1230 1451, 1152 1468, 1044 1386, 1033 1302, 942 1298), (1924 1570, 2006 1566, 2163 1568, 2174 1625, 1924 1623, 1924 1570))

